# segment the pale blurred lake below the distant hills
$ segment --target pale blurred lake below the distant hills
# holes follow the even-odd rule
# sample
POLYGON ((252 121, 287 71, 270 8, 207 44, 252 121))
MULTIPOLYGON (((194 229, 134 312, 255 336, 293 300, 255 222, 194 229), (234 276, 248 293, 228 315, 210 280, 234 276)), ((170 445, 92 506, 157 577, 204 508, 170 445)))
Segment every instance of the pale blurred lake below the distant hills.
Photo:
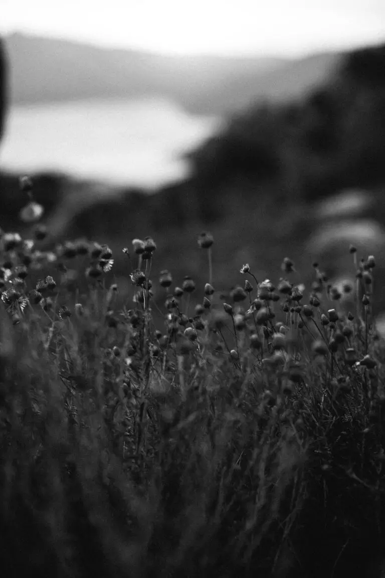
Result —
POLYGON ((0 168, 156 188, 187 176, 182 154, 221 124, 160 98, 12 106, 0 168))

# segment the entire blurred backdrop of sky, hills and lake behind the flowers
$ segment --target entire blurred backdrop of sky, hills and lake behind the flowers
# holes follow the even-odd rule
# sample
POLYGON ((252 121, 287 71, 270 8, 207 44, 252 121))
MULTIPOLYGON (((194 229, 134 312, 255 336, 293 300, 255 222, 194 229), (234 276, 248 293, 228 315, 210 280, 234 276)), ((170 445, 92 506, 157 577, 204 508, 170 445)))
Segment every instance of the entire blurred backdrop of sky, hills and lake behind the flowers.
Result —
MULTIPOLYGON (((376 257, 385 310, 383 0, 0 0, 0 227, 35 183, 48 242, 115 252, 151 235, 154 281, 310 288, 317 260, 352 279, 349 244, 376 257)), ((156 283, 155 283, 156 284, 156 283)))

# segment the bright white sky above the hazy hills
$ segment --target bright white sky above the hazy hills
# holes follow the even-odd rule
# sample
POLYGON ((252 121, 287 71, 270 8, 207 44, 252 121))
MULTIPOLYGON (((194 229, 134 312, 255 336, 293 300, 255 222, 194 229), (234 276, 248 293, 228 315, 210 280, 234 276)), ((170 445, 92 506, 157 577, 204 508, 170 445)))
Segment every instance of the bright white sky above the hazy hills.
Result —
POLYGON ((276 55, 385 42, 385 0, 0 0, 24 31, 162 54, 276 55))

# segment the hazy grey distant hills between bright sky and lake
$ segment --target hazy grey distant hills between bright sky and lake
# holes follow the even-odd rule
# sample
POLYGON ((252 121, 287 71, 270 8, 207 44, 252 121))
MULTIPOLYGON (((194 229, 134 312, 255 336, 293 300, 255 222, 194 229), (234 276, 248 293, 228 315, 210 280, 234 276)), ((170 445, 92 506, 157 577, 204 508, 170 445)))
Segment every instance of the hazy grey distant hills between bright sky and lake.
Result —
POLYGON ((24 34, 5 37, 12 103, 84 98, 172 99, 197 114, 227 114, 261 99, 300 97, 326 80, 338 53, 300 60, 171 57, 24 34))

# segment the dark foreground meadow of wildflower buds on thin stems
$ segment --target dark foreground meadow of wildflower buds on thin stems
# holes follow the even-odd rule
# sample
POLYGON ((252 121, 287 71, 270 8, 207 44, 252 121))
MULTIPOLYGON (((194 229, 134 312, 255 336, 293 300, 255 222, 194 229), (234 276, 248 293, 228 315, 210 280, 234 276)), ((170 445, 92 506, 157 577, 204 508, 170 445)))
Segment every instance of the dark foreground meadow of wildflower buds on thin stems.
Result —
POLYGON ((307 287, 290 255, 269 279, 240 262, 220 295, 210 232, 198 285, 143 231, 121 291, 103 239, 42 249, 20 188, 29 234, 0 239, 5 576, 381 576, 375 257, 350 246, 342 292, 316 262, 307 287))

